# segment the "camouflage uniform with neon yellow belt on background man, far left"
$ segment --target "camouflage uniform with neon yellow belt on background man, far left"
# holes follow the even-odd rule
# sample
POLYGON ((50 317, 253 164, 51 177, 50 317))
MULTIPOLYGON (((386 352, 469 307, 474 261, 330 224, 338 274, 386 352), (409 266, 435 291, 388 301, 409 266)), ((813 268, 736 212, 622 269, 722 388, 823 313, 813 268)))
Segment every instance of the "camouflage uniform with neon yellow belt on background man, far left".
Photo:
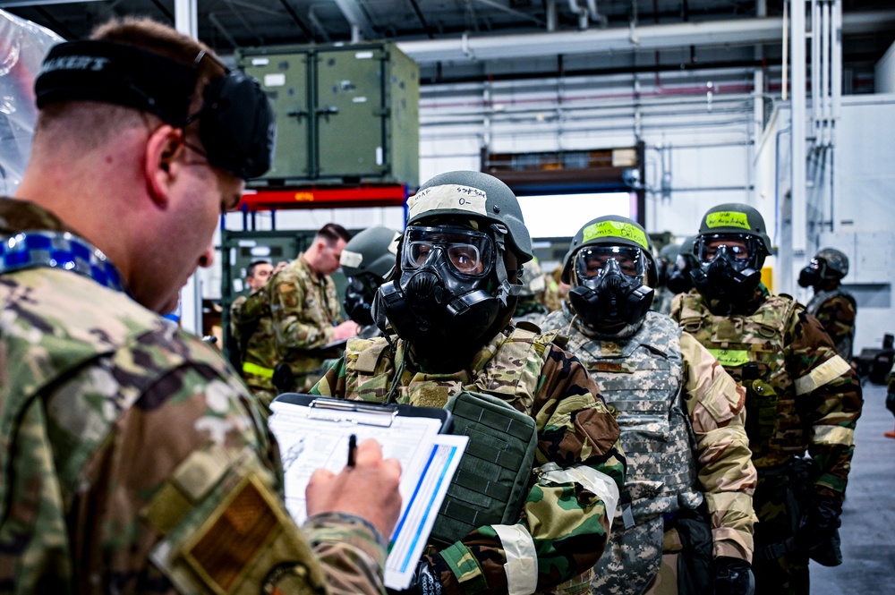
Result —
POLYGON ((273 383, 277 344, 268 294, 263 287, 234 300, 230 306, 230 333, 240 345, 243 380, 267 412, 270 402, 277 396, 273 383))

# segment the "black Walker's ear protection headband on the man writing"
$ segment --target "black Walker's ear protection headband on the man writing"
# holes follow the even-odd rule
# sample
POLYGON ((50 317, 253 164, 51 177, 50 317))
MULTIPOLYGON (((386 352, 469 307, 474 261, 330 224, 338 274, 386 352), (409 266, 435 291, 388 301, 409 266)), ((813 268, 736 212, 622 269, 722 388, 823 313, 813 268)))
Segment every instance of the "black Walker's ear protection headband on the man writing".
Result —
POLYGON ((183 128, 199 120, 209 163, 243 179, 270 168, 277 137, 273 109, 255 81, 230 71, 210 81, 200 111, 190 115, 199 64, 178 62, 139 47, 109 41, 72 41, 53 47, 34 83, 38 109, 59 101, 112 103, 158 115, 183 128))

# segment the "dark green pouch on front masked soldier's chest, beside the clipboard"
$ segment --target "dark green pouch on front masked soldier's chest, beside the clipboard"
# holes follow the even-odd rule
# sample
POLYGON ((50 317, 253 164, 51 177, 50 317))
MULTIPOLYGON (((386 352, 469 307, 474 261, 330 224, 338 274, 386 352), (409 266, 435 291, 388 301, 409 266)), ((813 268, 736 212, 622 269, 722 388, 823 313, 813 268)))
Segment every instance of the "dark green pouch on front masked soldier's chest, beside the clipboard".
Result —
POLYGON ((537 448, 534 420, 496 396, 462 391, 445 409, 452 433, 469 445, 432 528, 430 543, 441 548, 473 529, 519 520, 537 448))

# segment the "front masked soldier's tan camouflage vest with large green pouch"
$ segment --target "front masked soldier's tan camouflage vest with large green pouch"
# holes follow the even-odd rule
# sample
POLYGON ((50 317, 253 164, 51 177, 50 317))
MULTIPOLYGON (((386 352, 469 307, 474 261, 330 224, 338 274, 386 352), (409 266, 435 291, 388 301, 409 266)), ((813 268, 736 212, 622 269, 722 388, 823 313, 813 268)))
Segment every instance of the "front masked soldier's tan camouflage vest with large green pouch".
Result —
POLYGON ((477 527, 518 521, 537 447, 534 396, 554 335, 500 334, 473 358, 472 370, 454 374, 405 373, 403 342, 396 353, 384 338, 348 342, 346 398, 384 403, 398 373, 397 403, 447 407, 455 433, 470 438, 431 543, 446 547, 477 527))

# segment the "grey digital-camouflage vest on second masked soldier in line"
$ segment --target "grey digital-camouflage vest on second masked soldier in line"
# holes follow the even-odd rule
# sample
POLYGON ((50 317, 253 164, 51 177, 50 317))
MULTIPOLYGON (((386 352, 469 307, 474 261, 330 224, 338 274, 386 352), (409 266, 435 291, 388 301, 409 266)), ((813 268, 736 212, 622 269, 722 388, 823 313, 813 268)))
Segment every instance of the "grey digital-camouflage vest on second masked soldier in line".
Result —
POLYGON ((628 464, 622 500, 630 500, 630 510, 621 507, 626 525, 702 504, 692 429, 680 399, 683 364, 674 321, 651 311, 634 336, 618 342, 575 331, 569 349, 618 412, 628 464))

